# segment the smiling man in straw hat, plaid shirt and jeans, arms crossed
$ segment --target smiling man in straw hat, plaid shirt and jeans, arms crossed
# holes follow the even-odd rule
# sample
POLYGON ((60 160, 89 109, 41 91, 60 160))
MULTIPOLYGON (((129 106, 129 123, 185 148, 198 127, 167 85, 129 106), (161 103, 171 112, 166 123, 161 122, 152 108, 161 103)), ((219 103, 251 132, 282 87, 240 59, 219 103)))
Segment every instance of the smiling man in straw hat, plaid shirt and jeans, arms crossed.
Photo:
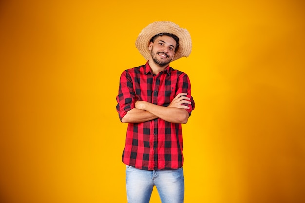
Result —
POLYGON ((162 203, 183 203, 183 141, 195 102, 187 74, 169 66, 191 53, 186 29, 154 22, 139 34, 137 49, 145 65, 121 74, 116 109, 128 123, 122 161, 126 164, 128 203, 149 203, 156 186, 162 203))

